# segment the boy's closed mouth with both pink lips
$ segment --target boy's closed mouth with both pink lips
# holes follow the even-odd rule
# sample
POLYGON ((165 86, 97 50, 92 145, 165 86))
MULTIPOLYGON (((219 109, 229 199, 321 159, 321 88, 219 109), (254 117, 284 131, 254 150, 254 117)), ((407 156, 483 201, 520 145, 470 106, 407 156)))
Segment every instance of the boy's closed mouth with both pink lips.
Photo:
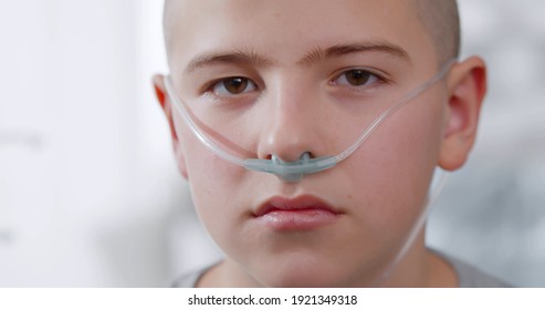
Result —
POLYGON ((339 215, 340 211, 312 195, 293 199, 275 196, 253 214, 261 225, 277 231, 316 229, 333 224, 339 215))

